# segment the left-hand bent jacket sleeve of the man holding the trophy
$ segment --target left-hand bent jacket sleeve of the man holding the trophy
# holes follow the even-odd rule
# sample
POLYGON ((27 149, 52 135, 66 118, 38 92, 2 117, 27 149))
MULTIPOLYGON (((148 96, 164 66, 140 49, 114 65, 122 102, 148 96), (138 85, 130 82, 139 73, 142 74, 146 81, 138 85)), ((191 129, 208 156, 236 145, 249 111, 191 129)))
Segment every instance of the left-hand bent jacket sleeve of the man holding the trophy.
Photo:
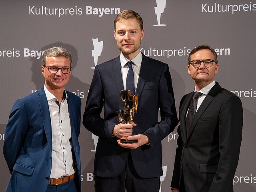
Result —
POLYGON ((111 139, 111 133, 116 123, 105 120, 100 116, 104 101, 102 89, 100 72, 98 66, 96 66, 86 101, 83 125, 96 136, 103 139, 111 139))

